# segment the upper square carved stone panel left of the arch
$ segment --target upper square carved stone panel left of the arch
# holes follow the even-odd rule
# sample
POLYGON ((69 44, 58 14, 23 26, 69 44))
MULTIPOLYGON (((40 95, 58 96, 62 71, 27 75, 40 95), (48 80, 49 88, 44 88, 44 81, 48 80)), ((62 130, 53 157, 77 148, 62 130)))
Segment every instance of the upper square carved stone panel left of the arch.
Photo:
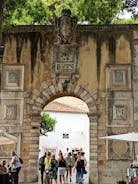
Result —
POLYGON ((24 88, 24 66, 3 65, 2 73, 3 90, 23 90, 24 88))

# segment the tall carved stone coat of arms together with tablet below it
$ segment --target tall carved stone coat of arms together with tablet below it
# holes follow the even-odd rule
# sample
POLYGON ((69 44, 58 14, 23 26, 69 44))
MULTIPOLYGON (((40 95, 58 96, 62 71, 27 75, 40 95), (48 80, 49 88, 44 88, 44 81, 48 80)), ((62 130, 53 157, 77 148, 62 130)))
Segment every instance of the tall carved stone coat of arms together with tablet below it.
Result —
POLYGON ((78 80, 78 44, 75 43, 77 19, 71 17, 70 10, 63 10, 62 16, 55 19, 57 39, 53 47, 53 83, 60 83, 63 91, 69 83, 78 80))

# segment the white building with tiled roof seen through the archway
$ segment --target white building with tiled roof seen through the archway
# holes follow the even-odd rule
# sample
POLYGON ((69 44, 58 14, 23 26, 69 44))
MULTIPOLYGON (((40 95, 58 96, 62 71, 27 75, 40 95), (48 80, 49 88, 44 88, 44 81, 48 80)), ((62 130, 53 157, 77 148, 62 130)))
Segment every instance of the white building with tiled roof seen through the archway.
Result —
POLYGON ((66 105, 65 100, 53 101, 44 108, 44 111, 56 119, 57 124, 55 130, 49 132, 48 136, 40 136, 40 154, 50 150, 57 155, 59 150, 66 152, 67 147, 70 151, 74 148, 83 148, 86 158, 89 159, 88 111, 79 103, 70 101, 69 104, 71 105, 66 105), (74 105, 78 108, 75 108, 74 105))

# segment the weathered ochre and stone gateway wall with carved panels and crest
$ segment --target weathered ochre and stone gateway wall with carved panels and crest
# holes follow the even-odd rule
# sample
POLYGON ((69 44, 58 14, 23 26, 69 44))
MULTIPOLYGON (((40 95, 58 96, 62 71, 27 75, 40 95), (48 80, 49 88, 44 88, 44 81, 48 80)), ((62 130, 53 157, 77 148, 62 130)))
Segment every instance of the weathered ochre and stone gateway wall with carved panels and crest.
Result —
MULTIPOLYGON (((77 25, 64 11, 51 26, 14 27, 3 42, 0 129, 18 139, 21 180, 37 181, 40 112, 63 96, 89 108, 89 184, 125 180, 132 144, 100 137, 138 131, 138 25, 77 25)), ((0 149, 10 159, 12 148, 0 149)))

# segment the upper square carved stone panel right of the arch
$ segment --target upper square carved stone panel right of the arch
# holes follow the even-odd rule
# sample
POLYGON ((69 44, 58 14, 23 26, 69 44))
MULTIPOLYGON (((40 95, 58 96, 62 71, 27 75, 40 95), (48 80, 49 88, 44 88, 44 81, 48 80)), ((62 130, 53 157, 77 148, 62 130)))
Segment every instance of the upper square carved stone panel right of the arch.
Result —
POLYGON ((106 90, 120 91, 131 89, 131 66, 130 65, 107 65, 106 66, 106 90))

